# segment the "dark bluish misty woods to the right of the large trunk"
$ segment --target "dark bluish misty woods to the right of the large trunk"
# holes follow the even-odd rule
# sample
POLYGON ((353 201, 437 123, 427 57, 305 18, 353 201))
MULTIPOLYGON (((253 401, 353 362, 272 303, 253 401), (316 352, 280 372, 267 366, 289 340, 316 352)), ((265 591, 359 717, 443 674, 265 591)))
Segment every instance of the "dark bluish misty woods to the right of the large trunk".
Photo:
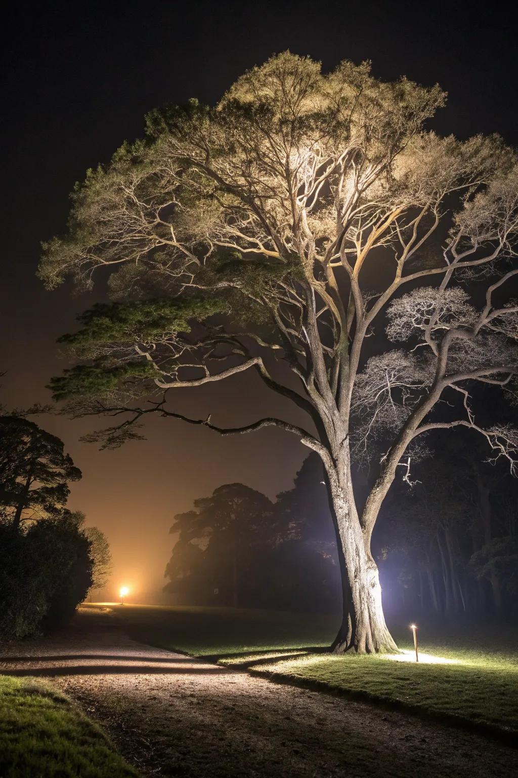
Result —
POLYGON ((516 478, 474 438, 445 440, 414 468, 411 488, 393 492, 377 537, 388 607, 450 616, 516 609, 516 478))

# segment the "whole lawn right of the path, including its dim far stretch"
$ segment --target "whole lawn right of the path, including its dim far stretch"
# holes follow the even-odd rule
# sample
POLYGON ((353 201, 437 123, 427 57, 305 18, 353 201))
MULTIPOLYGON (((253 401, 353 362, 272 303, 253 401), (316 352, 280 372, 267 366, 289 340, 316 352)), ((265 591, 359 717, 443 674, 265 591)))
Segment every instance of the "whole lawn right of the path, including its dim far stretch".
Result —
POLYGON ((390 625, 402 659, 323 654, 336 629, 332 616, 232 608, 113 607, 144 643, 213 657, 284 682, 345 693, 450 723, 513 738, 518 734, 518 628, 390 625), (311 651, 308 649, 311 647, 311 651), (297 653, 298 652, 298 653, 297 653), (428 656, 426 656, 428 655, 428 656))

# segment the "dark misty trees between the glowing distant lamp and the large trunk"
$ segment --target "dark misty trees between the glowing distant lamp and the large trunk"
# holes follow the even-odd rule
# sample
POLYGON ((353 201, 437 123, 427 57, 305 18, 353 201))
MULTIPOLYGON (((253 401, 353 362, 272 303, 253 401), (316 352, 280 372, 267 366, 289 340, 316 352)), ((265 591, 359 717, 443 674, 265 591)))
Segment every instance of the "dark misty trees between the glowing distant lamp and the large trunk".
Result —
POLYGON ((322 464, 308 457, 273 503, 240 483, 194 501, 179 534, 165 592, 182 605, 335 610, 340 576, 322 464), (316 485, 316 486, 315 486, 316 485), (320 489, 318 489, 320 485, 320 489))

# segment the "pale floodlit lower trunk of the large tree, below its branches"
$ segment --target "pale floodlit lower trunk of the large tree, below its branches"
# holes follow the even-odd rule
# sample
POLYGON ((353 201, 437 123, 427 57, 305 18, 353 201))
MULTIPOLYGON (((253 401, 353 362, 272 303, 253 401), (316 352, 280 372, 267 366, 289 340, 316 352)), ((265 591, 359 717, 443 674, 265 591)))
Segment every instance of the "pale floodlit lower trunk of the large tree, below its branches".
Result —
POLYGON ((332 492, 335 492, 332 509, 342 573, 342 624, 332 650, 336 654, 397 651, 385 624, 380 579, 370 553, 370 541, 364 537, 352 499, 344 499, 335 489, 332 492))

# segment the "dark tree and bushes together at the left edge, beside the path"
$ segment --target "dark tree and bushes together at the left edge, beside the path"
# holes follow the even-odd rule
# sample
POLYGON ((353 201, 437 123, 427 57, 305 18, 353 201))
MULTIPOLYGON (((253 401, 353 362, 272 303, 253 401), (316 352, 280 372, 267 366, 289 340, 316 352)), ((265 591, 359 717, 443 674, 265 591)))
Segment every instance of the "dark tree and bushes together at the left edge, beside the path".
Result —
POLYGON ((81 471, 59 438, 2 415, 0 440, 0 639, 23 638, 68 621, 106 584, 110 548, 66 507, 81 471))

